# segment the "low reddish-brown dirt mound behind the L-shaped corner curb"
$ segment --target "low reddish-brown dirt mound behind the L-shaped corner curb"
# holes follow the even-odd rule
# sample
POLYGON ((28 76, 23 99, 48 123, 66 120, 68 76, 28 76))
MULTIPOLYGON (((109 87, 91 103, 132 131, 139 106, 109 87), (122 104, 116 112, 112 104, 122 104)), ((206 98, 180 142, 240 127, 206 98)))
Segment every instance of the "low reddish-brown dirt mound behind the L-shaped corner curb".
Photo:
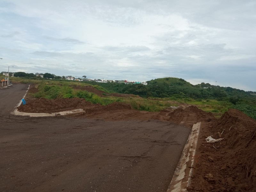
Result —
POLYGON ((18 111, 26 113, 53 113, 92 106, 90 102, 79 98, 48 100, 44 98, 31 100, 26 105, 18 107, 18 111))

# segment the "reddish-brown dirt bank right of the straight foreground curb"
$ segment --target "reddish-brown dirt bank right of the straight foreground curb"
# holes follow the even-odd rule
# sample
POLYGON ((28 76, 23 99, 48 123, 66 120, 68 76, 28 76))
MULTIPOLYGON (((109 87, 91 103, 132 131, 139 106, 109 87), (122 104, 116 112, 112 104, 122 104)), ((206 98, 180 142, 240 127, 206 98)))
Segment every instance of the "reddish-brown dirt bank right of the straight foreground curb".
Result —
POLYGON ((204 124, 196 162, 192 191, 256 191, 256 121, 230 109, 220 119, 204 124), (210 135, 223 140, 207 143, 205 138, 210 135), (211 180, 206 177, 210 173, 211 180))

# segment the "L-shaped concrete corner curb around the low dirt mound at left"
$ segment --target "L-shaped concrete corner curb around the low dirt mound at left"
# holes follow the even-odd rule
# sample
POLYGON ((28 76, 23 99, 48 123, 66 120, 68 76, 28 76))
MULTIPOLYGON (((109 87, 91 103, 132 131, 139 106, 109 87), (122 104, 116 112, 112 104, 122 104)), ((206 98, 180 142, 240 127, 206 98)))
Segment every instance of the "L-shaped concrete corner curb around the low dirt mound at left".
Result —
MULTIPOLYGON (((29 90, 30 85, 28 85, 29 90)), ((25 95, 22 99, 25 98, 25 96, 28 93, 28 90, 26 91, 25 95)), ((66 117, 72 117, 77 115, 82 115, 85 113, 83 109, 73 109, 68 111, 61 111, 56 113, 25 113, 18 111, 18 107, 21 105, 22 100, 20 100, 17 105, 14 107, 14 110, 11 112, 12 115, 19 115, 19 116, 30 116, 30 117, 47 117, 47 116, 66 116, 66 117)))

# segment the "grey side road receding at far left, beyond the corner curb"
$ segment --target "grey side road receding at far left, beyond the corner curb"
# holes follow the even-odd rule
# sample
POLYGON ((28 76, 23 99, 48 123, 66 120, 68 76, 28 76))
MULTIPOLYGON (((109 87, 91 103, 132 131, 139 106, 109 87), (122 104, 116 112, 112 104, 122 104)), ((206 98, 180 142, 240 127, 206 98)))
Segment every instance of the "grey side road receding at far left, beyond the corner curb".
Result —
POLYGON ((27 90, 28 84, 13 84, 0 89, 0 116, 10 115, 27 90))

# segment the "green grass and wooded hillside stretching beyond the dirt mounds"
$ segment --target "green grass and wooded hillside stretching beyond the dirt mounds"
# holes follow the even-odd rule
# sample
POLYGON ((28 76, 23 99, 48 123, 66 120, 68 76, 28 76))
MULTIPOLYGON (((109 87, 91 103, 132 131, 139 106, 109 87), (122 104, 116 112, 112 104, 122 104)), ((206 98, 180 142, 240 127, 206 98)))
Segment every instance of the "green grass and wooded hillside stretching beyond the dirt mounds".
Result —
POLYGON ((78 82, 65 79, 44 79, 28 77, 11 77, 11 81, 38 84, 39 92, 36 97, 55 98, 84 98, 92 103, 107 105, 112 102, 125 102, 132 108, 146 111, 160 111, 166 107, 175 106, 172 101, 196 105, 198 108, 212 112, 220 117, 229 108, 236 108, 255 119, 256 96, 253 92, 231 87, 214 86, 208 83, 192 85, 183 79, 161 78, 148 81, 148 85, 78 82), (106 93, 125 93, 139 95, 140 98, 110 97, 106 93, 99 97, 93 93, 77 90, 77 86, 92 86, 106 93), (76 86, 76 89, 73 87, 76 86), (200 88, 206 87, 206 88, 200 88))

